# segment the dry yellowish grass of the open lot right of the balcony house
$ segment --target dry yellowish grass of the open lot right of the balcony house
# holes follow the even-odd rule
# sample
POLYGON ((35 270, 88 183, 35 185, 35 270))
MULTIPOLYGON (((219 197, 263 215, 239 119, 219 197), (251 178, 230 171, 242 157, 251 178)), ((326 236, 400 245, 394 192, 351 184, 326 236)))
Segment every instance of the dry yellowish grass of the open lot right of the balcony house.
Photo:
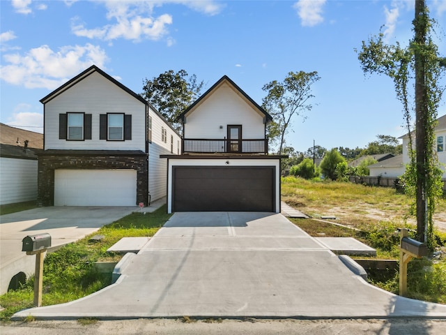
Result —
MULTIPOLYGON (((282 200, 313 218, 335 216, 346 225, 380 221, 415 223, 409 214, 410 198, 394 188, 285 177, 282 200)), ((434 221, 446 225, 445 199, 440 201, 434 221)))

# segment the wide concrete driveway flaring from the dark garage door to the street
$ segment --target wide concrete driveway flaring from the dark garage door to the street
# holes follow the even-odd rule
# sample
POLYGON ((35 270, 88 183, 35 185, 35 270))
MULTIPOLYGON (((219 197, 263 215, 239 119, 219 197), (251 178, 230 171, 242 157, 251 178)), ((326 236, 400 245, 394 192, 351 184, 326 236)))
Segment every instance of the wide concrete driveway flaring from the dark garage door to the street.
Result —
POLYGON ((75 318, 446 318, 392 295, 271 213, 176 213, 109 287, 15 320, 75 318))

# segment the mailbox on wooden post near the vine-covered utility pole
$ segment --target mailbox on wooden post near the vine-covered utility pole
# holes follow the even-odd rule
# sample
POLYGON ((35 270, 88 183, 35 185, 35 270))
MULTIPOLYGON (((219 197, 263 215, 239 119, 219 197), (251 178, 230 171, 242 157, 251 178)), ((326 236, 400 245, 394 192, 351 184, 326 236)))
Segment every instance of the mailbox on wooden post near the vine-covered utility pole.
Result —
POLYGON ((407 265, 412 258, 422 258, 429 254, 426 244, 410 239, 408 230, 401 228, 399 243, 399 295, 407 292, 407 265))

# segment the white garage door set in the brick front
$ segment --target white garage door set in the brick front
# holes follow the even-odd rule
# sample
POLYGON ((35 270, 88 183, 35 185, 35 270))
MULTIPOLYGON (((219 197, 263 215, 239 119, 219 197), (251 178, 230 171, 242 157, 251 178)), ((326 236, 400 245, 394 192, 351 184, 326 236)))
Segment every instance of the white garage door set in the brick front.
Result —
POLYGON ((54 170, 54 206, 135 206, 136 170, 54 170))

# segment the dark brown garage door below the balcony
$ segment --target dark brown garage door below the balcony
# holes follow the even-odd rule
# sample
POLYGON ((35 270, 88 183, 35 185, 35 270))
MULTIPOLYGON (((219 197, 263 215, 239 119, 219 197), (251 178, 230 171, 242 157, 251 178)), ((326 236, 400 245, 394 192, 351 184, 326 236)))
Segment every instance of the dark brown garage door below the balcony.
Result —
POLYGON ((174 211, 275 211, 274 167, 174 166, 174 211))

